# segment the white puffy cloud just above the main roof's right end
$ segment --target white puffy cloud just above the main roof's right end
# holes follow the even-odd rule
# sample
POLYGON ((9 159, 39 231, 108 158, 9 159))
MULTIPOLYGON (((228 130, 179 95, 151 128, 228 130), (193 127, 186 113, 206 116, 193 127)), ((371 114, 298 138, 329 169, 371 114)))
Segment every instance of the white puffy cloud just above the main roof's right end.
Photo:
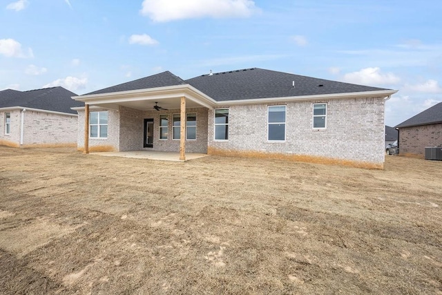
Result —
POLYGON ((381 73, 380 68, 363 68, 358 72, 347 73, 343 76, 345 82, 364 85, 396 84, 401 79, 393 73, 381 73))

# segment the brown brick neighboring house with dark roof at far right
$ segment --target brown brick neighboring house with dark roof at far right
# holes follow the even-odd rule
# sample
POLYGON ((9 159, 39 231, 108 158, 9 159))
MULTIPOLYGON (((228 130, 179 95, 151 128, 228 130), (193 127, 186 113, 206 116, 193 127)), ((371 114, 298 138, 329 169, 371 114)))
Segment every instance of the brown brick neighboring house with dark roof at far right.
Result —
POLYGON ((425 155, 425 146, 442 146, 442 102, 398 124, 401 155, 425 155))

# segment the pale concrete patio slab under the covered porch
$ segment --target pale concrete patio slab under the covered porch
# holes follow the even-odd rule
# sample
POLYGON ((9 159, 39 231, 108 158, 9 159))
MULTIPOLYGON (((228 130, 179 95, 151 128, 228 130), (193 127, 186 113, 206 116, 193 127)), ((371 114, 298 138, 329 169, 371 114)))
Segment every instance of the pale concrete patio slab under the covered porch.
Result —
MULTIPOLYGON (((173 151, 111 151, 90 153, 90 155, 104 155, 106 157, 124 157, 124 158, 140 158, 148 160, 177 161, 180 160, 180 153, 173 151)), ((186 161, 203 158, 205 153, 186 153, 186 161)))

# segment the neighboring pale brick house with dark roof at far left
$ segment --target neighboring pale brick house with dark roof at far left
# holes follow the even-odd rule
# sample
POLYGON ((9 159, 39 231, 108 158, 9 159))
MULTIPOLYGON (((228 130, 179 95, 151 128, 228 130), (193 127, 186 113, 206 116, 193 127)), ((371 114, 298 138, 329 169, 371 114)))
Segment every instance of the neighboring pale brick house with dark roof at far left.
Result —
POLYGON ((0 145, 75 146, 77 112, 84 106, 63 87, 0 91, 0 145))

